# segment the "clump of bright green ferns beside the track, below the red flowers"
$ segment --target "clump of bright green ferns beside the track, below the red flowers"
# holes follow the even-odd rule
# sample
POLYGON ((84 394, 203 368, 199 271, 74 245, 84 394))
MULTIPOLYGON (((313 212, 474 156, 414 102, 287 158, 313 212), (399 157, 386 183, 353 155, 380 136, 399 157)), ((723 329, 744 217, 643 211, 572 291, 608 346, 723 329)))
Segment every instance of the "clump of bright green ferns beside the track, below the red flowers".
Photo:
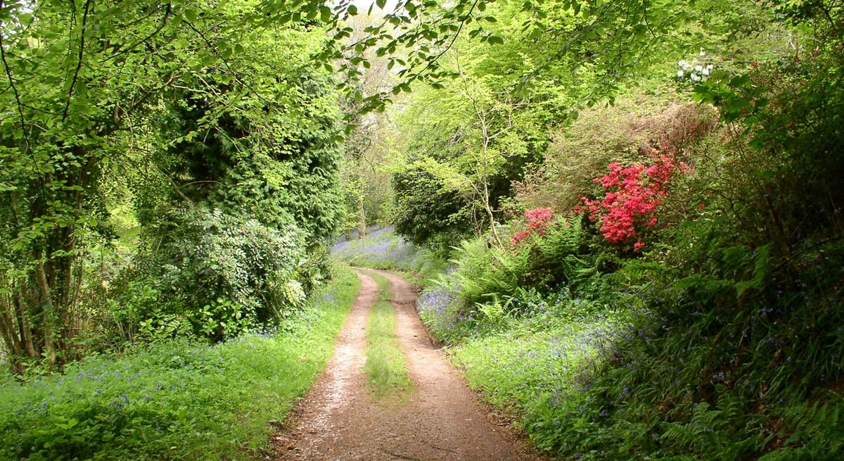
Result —
POLYGON ((417 301, 432 334, 458 343, 547 312, 587 318, 609 310, 614 291, 599 270, 605 258, 590 254, 580 219, 545 218, 515 233, 509 247, 478 238, 454 249, 453 267, 417 301))

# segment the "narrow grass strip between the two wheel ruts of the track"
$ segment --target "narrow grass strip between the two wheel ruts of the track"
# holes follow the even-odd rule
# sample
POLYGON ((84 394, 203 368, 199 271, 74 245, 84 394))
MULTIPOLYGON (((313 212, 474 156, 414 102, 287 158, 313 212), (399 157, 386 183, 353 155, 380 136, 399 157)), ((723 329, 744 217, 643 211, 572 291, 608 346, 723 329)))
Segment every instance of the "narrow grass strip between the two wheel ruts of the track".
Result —
POLYGON ((376 279, 378 300, 369 313, 366 328, 365 371, 373 392, 379 399, 402 397, 413 387, 404 353, 396 337, 396 312, 390 300, 390 282, 380 274, 367 273, 376 279))

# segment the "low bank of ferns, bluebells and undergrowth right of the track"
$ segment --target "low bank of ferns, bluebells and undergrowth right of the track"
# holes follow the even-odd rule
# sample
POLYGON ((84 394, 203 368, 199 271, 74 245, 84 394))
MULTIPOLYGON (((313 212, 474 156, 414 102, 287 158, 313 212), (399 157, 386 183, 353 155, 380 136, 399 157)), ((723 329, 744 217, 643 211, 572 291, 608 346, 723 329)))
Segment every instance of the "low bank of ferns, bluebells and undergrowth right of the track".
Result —
POLYGON ((784 266, 770 246, 725 244, 726 229, 680 227, 662 263, 558 246, 557 285, 526 278, 559 230, 532 249, 464 242, 419 316, 468 382, 560 458, 844 458, 844 317, 829 277, 844 247, 803 241, 784 266))

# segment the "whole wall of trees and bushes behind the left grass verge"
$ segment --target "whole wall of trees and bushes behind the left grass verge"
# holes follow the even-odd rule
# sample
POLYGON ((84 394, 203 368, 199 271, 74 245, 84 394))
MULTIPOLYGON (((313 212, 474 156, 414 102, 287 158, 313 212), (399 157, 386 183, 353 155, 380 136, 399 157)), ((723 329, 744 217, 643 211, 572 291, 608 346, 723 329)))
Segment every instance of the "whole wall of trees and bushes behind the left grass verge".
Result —
POLYGON ((333 76, 308 65, 327 39, 255 8, 0 5, 0 325, 19 371, 140 329, 231 337, 320 281, 304 252, 341 218, 333 76), (116 258, 122 234, 139 240, 116 258))

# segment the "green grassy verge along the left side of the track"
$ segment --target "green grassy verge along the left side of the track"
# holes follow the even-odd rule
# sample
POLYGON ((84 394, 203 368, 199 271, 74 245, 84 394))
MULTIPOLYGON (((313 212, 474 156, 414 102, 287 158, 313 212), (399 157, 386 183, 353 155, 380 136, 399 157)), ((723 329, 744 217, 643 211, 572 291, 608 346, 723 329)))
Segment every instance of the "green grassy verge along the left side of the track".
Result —
POLYGON ((0 459, 257 458, 326 366, 359 290, 338 267, 278 331, 150 344, 31 382, 0 377, 0 459))

